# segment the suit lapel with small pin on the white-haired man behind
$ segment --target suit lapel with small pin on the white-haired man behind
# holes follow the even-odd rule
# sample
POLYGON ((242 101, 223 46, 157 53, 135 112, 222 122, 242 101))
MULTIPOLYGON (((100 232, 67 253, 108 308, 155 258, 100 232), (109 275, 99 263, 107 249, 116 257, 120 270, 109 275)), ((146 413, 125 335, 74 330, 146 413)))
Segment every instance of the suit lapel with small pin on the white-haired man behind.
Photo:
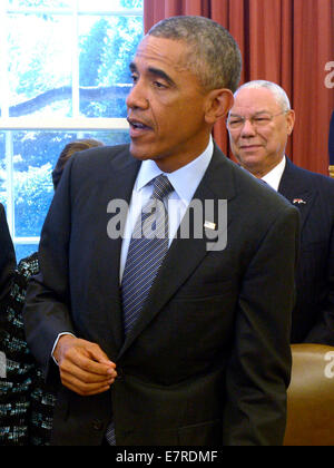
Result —
POLYGON ((288 158, 279 183, 278 193, 287 198, 301 213, 301 231, 311 212, 312 205, 317 197, 317 192, 301 176, 298 167, 296 167, 288 158))

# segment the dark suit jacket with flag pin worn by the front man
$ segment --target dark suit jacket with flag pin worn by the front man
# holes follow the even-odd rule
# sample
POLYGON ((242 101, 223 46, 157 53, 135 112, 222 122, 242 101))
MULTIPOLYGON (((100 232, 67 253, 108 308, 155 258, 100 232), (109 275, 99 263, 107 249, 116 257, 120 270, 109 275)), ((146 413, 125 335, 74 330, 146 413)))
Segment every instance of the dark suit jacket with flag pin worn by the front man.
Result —
MULTIPOLYGON (((24 311, 32 352, 51 379, 56 337, 70 331, 119 374, 100 396, 60 389, 52 443, 100 445, 111 415, 120 446, 282 443, 297 209, 216 148, 195 198, 227 199, 227 246, 208 252, 205 232, 175 240, 124 341, 121 238, 107 235, 107 206, 129 202, 139 166, 128 146, 81 152, 43 226, 24 311)), ((223 231, 217 216, 207 221, 223 231)))

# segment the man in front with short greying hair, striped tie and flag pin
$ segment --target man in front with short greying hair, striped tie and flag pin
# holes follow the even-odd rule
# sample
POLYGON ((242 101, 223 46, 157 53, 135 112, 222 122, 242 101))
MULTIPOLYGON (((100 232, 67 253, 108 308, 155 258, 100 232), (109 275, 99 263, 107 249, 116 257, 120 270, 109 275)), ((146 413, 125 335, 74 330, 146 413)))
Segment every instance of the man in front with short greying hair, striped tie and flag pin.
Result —
POLYGON ((281 445, 299 217, 210 137, 238 47, 212 20, 169 18, 130 69, 131 143, 68 163, 27 294, 28 342, 62 383, 52 443, 281 445))

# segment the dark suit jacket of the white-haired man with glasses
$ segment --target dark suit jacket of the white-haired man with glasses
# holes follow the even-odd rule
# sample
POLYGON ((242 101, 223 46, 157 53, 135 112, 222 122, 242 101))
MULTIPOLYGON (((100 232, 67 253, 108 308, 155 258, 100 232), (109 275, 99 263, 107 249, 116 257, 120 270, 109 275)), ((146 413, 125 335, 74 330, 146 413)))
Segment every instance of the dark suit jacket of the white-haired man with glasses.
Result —
POLYGON ((292 343, 334 345, 334 181, 287 159, 278 192, 302 223, 292 343))

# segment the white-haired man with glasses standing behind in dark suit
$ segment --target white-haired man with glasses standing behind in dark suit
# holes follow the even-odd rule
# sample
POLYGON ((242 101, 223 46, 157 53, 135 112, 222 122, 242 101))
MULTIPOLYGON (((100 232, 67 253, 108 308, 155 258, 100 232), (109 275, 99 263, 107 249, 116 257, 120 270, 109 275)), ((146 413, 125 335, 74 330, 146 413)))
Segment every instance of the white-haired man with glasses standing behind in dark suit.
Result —
POLYGON ((295 114, 276 84, 243 85, 227 121, 232 150, 240 165, 301 213, 291 341, 334 345, 334 181, 297 167, 285 156, 295 114))

